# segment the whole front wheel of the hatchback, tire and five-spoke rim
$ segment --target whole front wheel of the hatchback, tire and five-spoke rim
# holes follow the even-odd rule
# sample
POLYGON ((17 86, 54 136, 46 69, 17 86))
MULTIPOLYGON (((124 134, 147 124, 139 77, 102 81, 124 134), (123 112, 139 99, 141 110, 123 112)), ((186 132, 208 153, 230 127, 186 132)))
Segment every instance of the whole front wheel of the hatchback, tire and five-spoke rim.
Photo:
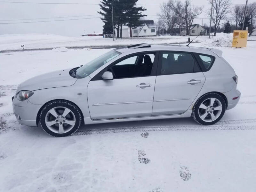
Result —
POLYGON ((53 100, 47 103, 40 114, 44 131, 54 137, 73 134, 82 123, 80 109, 67 100, 53 100))

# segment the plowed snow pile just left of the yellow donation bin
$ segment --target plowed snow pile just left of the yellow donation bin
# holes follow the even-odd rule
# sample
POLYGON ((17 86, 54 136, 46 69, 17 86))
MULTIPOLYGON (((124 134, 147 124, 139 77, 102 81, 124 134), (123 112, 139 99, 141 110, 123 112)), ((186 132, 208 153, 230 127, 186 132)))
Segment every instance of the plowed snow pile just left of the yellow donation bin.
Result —
POLYGON ((231 47, 233 34, 218 34, 212 36, 211 39, 206 39, 202 42, 201 46, 204 47, 231 47))

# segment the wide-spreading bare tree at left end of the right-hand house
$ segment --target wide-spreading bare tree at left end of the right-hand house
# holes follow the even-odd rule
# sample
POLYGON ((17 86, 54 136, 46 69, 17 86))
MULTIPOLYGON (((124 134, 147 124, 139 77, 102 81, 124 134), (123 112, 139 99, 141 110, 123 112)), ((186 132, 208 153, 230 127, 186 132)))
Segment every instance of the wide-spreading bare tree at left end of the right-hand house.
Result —
POLYGON ((190 27, 196 16, 202 13, 203 7, 191 6, 190 0, 185 0, 184 4, 180 0, 169 0, 172 10, 177 16, 184 20, 184 27, 186 28, 186 35, 189 35, 190 27))

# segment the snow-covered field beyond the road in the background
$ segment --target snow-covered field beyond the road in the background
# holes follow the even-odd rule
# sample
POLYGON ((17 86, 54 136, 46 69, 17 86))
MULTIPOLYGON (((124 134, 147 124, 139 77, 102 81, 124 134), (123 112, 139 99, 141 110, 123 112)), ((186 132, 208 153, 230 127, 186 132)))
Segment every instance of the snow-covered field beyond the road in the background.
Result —
MULTIPOLYGON (((232 33, 217 33, 218 38, 232 40, 232 33)), ((56 47, 104 47, 104 46, 120 46, 139 43, 148 44, 172 44, 185 43, 194 39, 196 36, 154 36, 154 37, 133 37, 115 39, 103 38, 102 36, 79 36, 67 37, 54 34, 24 34, 24 35, 0 35, 0 51, 4 50, 22 50, 24 49, 51 49, 56 47)), ((213 37, 216 39, 217 37, 213 37)), ((209 40, 208 36, 198 36, 196 41, 209 40)), ((248 40, 256 40, 256 36, 248 37, 248 40)))

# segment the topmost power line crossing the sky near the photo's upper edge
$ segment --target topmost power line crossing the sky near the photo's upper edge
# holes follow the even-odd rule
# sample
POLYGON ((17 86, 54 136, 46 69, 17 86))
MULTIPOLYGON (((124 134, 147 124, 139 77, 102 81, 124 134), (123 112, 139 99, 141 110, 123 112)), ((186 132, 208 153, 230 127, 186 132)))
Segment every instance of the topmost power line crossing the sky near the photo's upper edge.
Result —
MULTIPOLYGON (((20 3, 20 4, 74 4, 74 5, 100 5, 96 3, 46 3, 46 2, 18 2, 18 1, 0 1, 0 3, 20 3)), ((113 4, 113 5, 121 5, 121 4, 113 4)), ((165 4, 136 4, 136 5, 165 5, 165 4)), ((174 4, 176 5, 176 4, 174 4)), ((180 5, 185 5, 185 4, 180 4, 180 5)), ((211 4, 191 4, 193 6, 207 6, 211 4)), ((245 5, 245 4, 228 4, 228 5, 245 5)))

